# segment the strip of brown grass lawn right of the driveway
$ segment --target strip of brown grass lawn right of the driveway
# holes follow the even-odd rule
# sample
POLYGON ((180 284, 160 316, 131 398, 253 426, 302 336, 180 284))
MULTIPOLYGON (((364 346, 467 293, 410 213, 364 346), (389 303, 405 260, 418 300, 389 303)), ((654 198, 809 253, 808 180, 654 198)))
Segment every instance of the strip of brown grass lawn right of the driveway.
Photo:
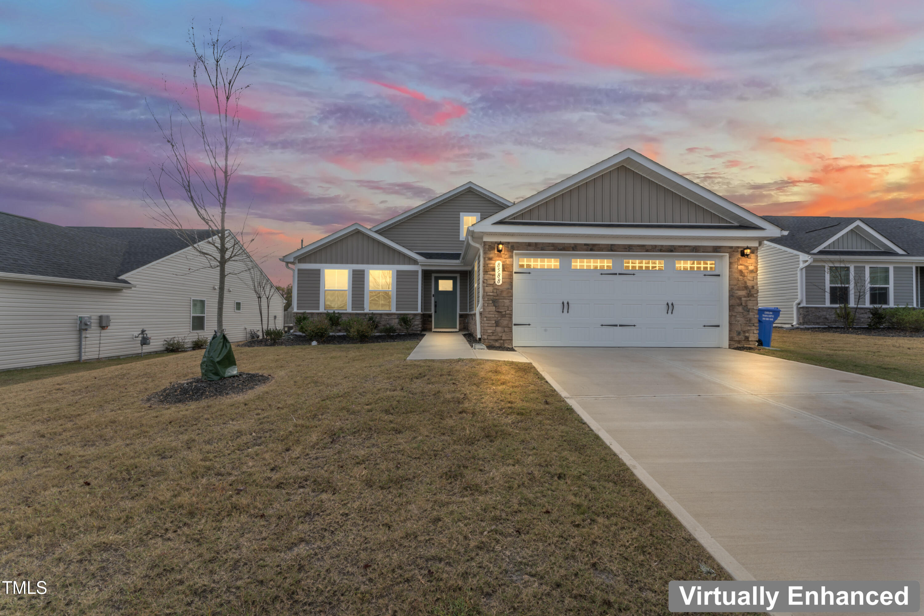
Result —
POLYGON ((924 387, 924 338, 776 329, 772 344, 751 352, 924 387))

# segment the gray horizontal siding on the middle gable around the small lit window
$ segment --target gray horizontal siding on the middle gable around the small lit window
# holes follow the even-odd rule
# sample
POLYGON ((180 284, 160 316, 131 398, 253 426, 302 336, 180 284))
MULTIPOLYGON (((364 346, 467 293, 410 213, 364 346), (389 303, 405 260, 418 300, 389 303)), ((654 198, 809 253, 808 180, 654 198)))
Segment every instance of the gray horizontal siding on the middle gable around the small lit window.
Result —
POLYGON ((466 190, 452 199, 421 211, 400 223, 383 229, 379 235, 411 250, 432 252, 462 252, 464 240, 459 240, 459 214, 478 212, 481 220, 504 207, 485 199, 473 190, 466 190))

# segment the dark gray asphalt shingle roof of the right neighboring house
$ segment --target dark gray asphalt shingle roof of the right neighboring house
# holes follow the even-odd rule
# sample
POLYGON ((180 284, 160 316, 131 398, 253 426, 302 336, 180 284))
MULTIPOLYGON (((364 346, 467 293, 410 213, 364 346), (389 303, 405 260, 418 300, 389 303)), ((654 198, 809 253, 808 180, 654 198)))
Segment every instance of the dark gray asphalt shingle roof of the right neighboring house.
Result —
MULTIPOLYGON (((861 220, 885 236, 896 246, 905 250, 909 256, 924 257, 924 222, 910 218, 842 218, 834 216, 764 216, 766 220, 785 229, 788 236, 774 237, 767 240, 792 248, 799 252, 812 254, 811 251, 821 246, 825 240, 844 231, 851 224, 861 220)), ((818 253, 815 253, 818 254, 818 253)), ((832 256, 887 256, 896 253, 891 251, 857 251, 857 250, 825 250, 825 255, 832 256)))

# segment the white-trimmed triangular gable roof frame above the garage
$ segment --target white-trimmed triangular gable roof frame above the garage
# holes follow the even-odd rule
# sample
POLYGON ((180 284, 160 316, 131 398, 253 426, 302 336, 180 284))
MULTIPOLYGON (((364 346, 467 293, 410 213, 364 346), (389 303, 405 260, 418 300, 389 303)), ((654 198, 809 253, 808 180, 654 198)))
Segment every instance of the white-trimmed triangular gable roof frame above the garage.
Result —
MULTIPOLYGON (((505 211, 499 211, 491 217, 476 223, 473 227, 476 231, 485 231, 486 227, 496 223, 554 223, 561 224, 561 221, 515 221, 514 219, 521 212, 529 211, 536 206, 549 202, 560 195, 564 195, 569 190, 588 183, 603 174, 614 171, 619 167, 626 167, 634 174, 638 174, 650 180, 651 183, 659 187, 666 188, 668 191, 675 193, 682 199, 687 199, 692 204, 699 206, 703 211, 709 211, 716 216, 707 223, 684 223, 703 226, 705 224, 718 225, 724 227, 749 228, 754 230, 772 230, 779 231, 774 224, 762 219, 757 214, 746 210, 745 208, 724 199, 705 187, 687 179, 683 175, 671 171, 659 163, 655 163, 647 156, 639 154, 632 149, 621 151, 610 158, 596 163, 587 169, 565 178, 551 187, 547 187, 535 195, 519 201, 516 205, 507 208, 505 211), (716 223, 715 221, 722 221, 716 223)), ((705 219, 705 217, 704 217, 705 219)), ((676 223, 651 223, 644 221, 639 223, 601 223, 596 221, 590 222, 568 222, 579 226, 677 226, 676 223)))

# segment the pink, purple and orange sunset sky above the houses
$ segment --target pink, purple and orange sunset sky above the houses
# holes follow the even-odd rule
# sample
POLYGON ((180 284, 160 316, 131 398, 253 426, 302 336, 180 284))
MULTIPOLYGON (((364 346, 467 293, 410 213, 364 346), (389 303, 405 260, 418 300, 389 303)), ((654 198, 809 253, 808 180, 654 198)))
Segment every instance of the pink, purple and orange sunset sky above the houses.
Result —
POLYGON ((924 220, 919 0, 0 2, 0 211, 155 226, 145 99, 190 100, 193 18, 251 54, 234 217, 278 282, 302 238, 626 147, 760 214, 924 220))

